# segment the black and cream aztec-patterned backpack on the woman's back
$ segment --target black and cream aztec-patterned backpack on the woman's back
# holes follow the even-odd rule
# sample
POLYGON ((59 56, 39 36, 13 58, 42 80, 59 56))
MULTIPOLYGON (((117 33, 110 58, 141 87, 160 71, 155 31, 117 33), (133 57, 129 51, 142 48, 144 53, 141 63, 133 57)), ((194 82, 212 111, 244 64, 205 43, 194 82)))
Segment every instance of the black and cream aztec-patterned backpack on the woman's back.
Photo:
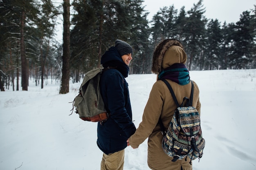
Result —
POLYGON ((187 157, 189 157, 189 163, 191 164, 191 161, 196 158, 200 160, 205 146, 205 140, 202 137, 200 126, 200 115, 198 110, 192 106, 193 82, 191 81, 192 88, 190 99, 184 97, 182 104, 179 105, 171 85, 165 79, 162 79, 162 81, 168 86, 177 105, 177 109, 168 126, 167 132, 165 132, 162 120, 159 118, 161 131, 164 135, 162 148, 168 156, 173 157, 173 162, 177 161, 177 159, 183 159, 184 157, 186 157, 186 160, 187 157), (185 101, 186 105, 184 106, 185 101))

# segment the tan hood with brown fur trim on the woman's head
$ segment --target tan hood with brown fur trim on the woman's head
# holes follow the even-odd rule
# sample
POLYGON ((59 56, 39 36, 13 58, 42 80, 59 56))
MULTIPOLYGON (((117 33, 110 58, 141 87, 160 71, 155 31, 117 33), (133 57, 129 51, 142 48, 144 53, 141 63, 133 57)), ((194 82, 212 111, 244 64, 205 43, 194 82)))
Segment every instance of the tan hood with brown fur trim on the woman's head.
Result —
POLYGON ((153 53, 152 72, 159 74, 162 69, 175 63, 185 64, 187 60, 183 45, 176 39, 166 39, 160 42, 153 53))

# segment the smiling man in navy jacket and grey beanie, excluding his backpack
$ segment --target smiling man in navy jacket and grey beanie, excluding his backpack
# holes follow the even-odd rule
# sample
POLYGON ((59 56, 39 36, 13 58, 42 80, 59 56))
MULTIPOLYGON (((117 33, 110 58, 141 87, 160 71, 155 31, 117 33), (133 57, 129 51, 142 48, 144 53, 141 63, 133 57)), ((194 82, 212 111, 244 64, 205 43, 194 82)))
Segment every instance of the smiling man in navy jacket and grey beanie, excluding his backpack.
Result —
POLYGON ((123 170, 126 140, 135 132, 132 123, 132 109, 128 83, 132 47, 116 40, 101 57, 104 71, 101 75, 100 90, 109 118, 98 123, 97 145, 103 151, 101 170, 123 170))

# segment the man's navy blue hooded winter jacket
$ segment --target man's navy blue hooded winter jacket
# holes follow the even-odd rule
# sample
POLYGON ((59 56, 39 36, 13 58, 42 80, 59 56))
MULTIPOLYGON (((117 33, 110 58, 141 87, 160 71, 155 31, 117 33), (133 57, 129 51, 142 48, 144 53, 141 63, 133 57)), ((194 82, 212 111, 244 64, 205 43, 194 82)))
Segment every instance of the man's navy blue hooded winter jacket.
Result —
POLYGON ((110 47, 101 57, 103 67, 115 67, 103 71, 100 90, 110 117, 98 123, 97 145, 105 153, 110 154, 127 147, 126 140, 135 132, 132 123, 132 109, 128 83, 129 67, 123 62, 115 47, 110 47))

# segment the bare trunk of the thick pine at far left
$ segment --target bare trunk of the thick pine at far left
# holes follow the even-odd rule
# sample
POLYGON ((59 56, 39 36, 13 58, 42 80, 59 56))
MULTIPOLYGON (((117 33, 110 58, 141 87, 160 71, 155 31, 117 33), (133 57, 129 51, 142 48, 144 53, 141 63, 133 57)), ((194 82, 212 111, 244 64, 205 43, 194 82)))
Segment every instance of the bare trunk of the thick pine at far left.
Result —
POLYGON ((21 59, 21 86, 22 91, 27 91, 28 76, 27 76, 27 59, 25 55, 24 43, 24 27, 25 27, 25 12, 21 12, 20 20, 20 59, 21 59))

